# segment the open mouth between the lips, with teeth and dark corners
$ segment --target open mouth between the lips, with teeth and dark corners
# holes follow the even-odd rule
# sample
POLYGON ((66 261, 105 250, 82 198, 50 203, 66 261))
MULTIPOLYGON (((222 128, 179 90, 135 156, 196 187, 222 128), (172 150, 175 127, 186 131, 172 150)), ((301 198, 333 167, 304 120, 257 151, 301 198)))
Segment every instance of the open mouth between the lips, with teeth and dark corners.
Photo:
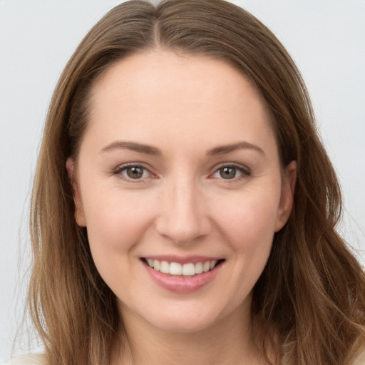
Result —
POLYGON ((212 269, 215 269, 215 267, 222 264, 225 259, 207 259, 198 262, 186 262, 184 264, 148 257, 142 257, 141 261, 151 269, 173 277, 195 277, 204 274, 205 272, 212 271, 212 269))

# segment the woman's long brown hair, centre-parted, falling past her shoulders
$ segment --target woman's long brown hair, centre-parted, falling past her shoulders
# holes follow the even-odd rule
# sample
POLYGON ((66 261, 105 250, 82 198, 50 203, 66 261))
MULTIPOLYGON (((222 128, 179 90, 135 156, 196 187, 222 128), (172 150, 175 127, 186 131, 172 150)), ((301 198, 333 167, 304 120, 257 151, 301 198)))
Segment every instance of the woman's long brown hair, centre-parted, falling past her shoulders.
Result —
POLYGON ((365 278, 335 227, 341 193, 287 51, 247 11, 222 0, 128 1, 86 35, 51 100, 31 201, 32 319, 48 364, 108 364, 123 329, 74 219, 66 171, 77 159, 98 76, 130 53, 164 48, 220 58, 250 78, 272 113, 283 165, 297 160, 294 207, 274 237, 252 300, 258 345, 281 364, 352 364, 364 346, 365 278))

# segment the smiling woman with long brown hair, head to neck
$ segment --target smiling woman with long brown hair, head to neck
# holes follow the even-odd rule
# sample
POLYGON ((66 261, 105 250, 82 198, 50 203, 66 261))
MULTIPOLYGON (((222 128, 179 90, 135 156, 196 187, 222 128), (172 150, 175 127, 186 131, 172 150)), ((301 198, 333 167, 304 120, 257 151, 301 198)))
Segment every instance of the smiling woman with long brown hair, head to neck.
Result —
POLYGON ((265 26, 218 0, 116 6, 43 135, 40 361, 361 361, 364 273, 340 208, 304 83, 265 26))

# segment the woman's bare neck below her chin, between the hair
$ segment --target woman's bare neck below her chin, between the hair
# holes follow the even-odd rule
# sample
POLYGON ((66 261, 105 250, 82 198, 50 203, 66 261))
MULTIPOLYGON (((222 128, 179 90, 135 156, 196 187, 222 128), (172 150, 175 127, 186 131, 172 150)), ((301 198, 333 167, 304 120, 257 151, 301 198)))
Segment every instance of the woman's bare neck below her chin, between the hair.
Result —
POLYGON ((264 364, 252 341, 250 312, 242 308, 199 331, 164 331, 133 313, 123 315, 123 323, 118 365, 264 364))

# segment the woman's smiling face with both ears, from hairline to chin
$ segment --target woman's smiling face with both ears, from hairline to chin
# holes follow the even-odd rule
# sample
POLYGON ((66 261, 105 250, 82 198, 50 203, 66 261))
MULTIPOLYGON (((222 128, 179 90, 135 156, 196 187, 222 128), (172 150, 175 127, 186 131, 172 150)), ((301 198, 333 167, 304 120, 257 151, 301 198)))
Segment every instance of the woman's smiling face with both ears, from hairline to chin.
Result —
POLYGON ((255 88, 224 61, 149 51, 108 69, 91 105, 67 167, 122 316, 167 331, 248 316, 295 178, 255 88))

